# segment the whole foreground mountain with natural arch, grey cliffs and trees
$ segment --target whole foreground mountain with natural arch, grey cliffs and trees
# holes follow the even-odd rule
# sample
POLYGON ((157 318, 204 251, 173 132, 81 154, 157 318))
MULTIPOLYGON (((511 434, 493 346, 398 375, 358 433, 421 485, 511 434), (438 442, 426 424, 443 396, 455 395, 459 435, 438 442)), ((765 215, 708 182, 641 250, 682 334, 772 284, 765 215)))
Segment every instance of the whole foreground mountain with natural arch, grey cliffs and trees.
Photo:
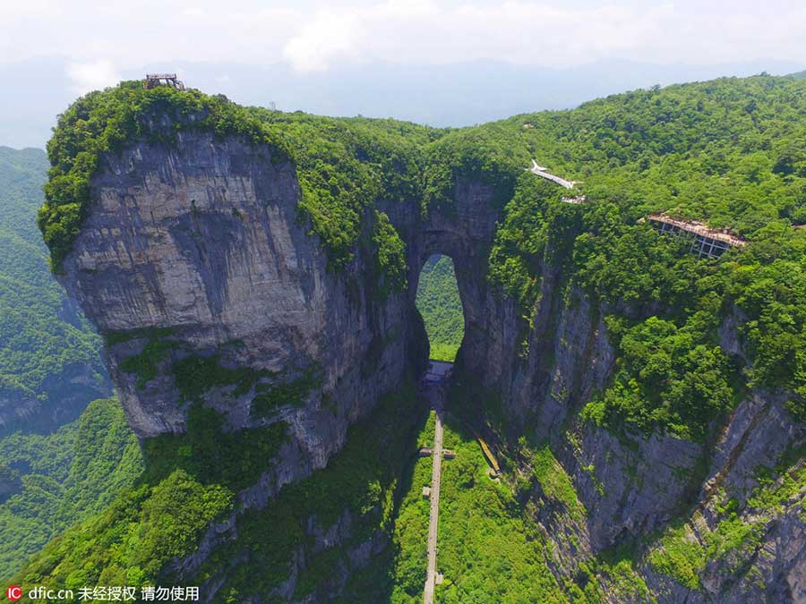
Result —
POLYGON ((804 92, 725 78, 450 130, 80 98, 39 226, 145 470, 17 580, 414 602, 431 549, 442 602, 802 601, 804 92), (465 333, 417 389, 435 254, 465 333))

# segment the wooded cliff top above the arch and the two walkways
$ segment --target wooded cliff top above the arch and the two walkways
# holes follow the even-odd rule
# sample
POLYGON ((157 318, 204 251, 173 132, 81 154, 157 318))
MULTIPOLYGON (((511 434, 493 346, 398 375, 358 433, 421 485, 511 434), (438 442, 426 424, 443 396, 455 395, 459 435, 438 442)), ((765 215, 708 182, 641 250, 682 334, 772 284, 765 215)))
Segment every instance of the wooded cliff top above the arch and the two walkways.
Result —
POLYGON ((238 136, 296 163, 301 207, 334 265, 377 199, 450 206, 457 174, 475 174, 509 201, 532 157, 584 182, 588 198, 665 212, 752 238, 779 219, 806 221, 806 81, 756 76, 649 89, 571 111, 519 115, 461 129, 328 118, 242 107, 221 96, 122 82, 79 98, 47 149, 53 168, 39 226, 58 268, 81 228, 99 157, 133 140, 180 132, 238 136))

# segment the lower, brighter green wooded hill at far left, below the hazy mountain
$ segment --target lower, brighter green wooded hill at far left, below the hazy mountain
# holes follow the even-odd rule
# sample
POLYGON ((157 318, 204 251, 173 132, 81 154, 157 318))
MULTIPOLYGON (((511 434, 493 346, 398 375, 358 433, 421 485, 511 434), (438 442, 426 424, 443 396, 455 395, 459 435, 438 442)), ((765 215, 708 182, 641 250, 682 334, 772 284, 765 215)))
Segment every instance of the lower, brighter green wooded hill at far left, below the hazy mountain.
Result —
POLYGON ((0 458, 21 475, 20 489, 0 503, 0 577, 103 511, 142 469, 137 439, 115 399, 90 403, 80 420, 50 435, 0 439, 0 458))

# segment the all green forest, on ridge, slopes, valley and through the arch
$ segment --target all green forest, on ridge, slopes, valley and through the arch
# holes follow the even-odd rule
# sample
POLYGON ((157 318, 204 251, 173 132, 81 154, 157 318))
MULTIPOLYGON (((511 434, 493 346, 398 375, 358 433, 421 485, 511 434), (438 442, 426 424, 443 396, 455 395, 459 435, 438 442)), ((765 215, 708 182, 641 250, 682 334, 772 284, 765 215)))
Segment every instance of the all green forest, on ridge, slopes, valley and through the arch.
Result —
MULTIPOLYGON (((806 419, 803 115, 806 81, 767 75, 637 90, 570 111, 462 129, 283 114, 195 90, 143 90, 139 82, 124 82, 79 99, 60 117, 47 149, 51 169, 39 228, 58 272, 80 232, 90 181, 104 153, 138 138, 169 142, 182 129, 237 135, 266 145, 271 161, 296 166, 300 219, 319 237, 330 269, 346 270, 364 246, 376 259, 378 291, 394 296, 409 285, 405 250, 389 217, 373 208, 375 200, 418 200, 424 217, 450 213, 457 181, 475 179, 491 187, 502 209, 486 278, 496 294, 517 303, 524 333, 550 269, 559 269, 563 303, 578 303, 584 295, 593 312, 603 315, 616 369, 579 410, 579 420, 627 443, 656 433, 711 442, 721 421, 754 388, 784 396, 791 418, 806 419), (158 113, 174 121, 150 119, 158 113), (580 181, 587 202, 563 203, 564 191, 525 171, 532 158, 580 181), (654 212, 729 230, 747 245, 720 259, 697 259, 687 242, 647 225, 654 212), (719 328, 727 318, 739 326, 743 358, 720 345, 719 328)), ((16 171, 7 176, 13 180, 28 168, 3 169, 16 171)), ((34 195, 33 189, 24 195, 8 191, 0 199, 12 208, 9 216, 25 205, 23 197, 34 195)), ((35 205, 25 206, 26 216, 35 205)), ((100 371, 98 338, 81 320, 71 330, 54 319, 62 298, 47 276, 46 253, 17 231, 0 231, 0 242, 0 262, 16 259, 0 264, 10 292, 0 290, 0 304, 30 302, 14 302, 0 315, 3 387, 47 396, 45 376, 58 373, 68 358, 61 353, 65 341, 77 351, 69 358, 83 358, 100 371), (25 250, 39 250, 39 256, 23 258, 25 250), (14 277, 19 262, 36 269, 33 283, 14 277), (41 283, 33 289, 37 278, 41 283), (25 316, 6 319, 17 317, 12 313, 25 316), (20 336, 19 325, 33 327, 20 336)), ((432 357, 452 360, 464 326, 450 259, 428 260, 417 307, 432 357)), ((526 337, 524 356, 528 345, 526 337)), ((133 362, 133 370, 153 369, 146 361, 133 362)), ((0 441, 6 464, 0 465, 0 485, 10 485, 4 487, 0 527, 10 542, 32 553, 66 528, 19 571, 12 550, 0 550, 0 574, 60 586, 170 580, 170 561, 191 553, 210 523, 236 509, 238 491, 274 468, 287 443, 287 424, 225 430, 219 414, 203 407, 195 379, 223 379, 216 360, 191 363, 179 368, 188 394, 187 434, 147 440, 142 459, 110 401, 91 405, 79 423, 50 436, 0 441), (107 434, 101 425, 116 429, 107 434), (81 447, 79 433, 87 441, 81 447), (43 451, 47 456, 34 455, 43 451), (106 481, 98 481, 90 497, 87 481, 101 473, 106 481), (60 494, 57 501, 42 495, 42 484, 60 494), (47 518, 47 527, 34 531, 34 518, 47 518)), ((267 402, 269 409, 273 403, 267 402)), ((528 419, 506 429, 527 433, 528 419)), ((458 456, 444 466, 439 539, 447 581, 439 588, 440 601, 600 601, 601 582, 616 584, 630 598, 648 599, 634 552, 588 557, 568 584, 551 572, 550 544, 532 519, 539 510, 524 508, 530 496, 540 493, 543 503, 557 504, 572 523, 584 523, 587 514, 551 447, 524 437, 517 461, 528 475, 510 472, 493 481, 476 440, 459 421, 449 421, 446 430, 458 456)), ((325 597, 334 577, 351 564, 347 551, 381 535, 392 547, 349 575, 344 601, 419 601, 427 527, 419 489, 428 466, 414 451, 432 433, 433 421, 413 385, 390 393, 351 428, 347 445, 325 469, 286 485, 265 508, 237 515, 236 538, 219 543, 193 581, 223 573, 224 602, 269 591, 287 581, 288 561, 296 544, 309 544, 309 529, 326 530, 349 509, 350 540, 306 552, 294 597, 325 597), (279 526, 282 531, 275 530, 279 526)), ((793 467, 782 465, 775 481, 760 477, 747 505, 768 512, 797 494, 804 476, 793 467)), ((703 543, 685 539, 684 523, 652 536, 647 563, 696 588, 710 561, 735 555, 742 540, 757 539, 758 526, 738 519, 736 506, 725 501, 727 520, 703 543)))

